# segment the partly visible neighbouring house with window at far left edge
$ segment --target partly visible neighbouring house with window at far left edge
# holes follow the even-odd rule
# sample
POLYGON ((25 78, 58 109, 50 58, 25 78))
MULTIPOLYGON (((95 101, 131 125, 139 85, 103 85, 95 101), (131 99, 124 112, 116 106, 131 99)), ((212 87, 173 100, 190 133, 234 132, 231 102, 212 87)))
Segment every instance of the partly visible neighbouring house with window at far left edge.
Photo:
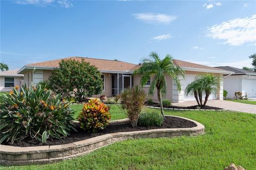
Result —
POLYGON ((10 92, 12 87, 23 84, 23 75, 17 74, 18 70, 0 71, 0 92, 10 92))

